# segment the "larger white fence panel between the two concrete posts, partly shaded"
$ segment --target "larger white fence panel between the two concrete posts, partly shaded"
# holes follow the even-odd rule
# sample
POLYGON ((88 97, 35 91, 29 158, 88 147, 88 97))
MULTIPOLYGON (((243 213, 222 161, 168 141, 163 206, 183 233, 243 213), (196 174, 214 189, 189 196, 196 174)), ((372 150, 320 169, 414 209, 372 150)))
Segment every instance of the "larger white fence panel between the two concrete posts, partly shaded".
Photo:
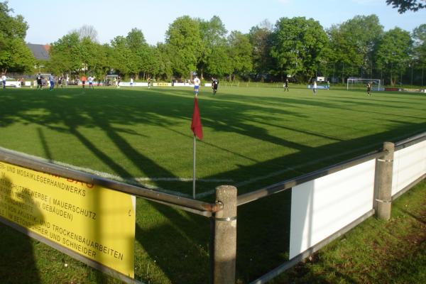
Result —
POLYGON ((290 259, 373 208, 376 160, 293 187, 290 259))

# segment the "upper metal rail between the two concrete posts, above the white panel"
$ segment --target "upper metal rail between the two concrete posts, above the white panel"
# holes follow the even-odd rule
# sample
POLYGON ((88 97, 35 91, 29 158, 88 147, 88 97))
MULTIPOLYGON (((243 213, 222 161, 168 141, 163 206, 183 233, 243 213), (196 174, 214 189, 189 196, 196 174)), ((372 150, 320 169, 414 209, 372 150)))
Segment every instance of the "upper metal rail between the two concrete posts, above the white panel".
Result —
POLYGON ((237 199, 237 206, 253 202, 255 200, 259 200, 263 197, 267 197, 269 195, 273 195, 278 192, 282 192, 283 190, 288 190, 291 187, 295 187, 295 185, 300 185, 304 182, 309 182, 310 180, 315 180, 317 178, 321 178, 325 175, 329 175, 331 173, 336 173, 340 170, 344 170, 346 168, 353 167, 354 165, 359 165, 361 163, 366 162, 367 160, 372 160, 375 158, 382 157, 384 151, 374 151, 371 153, 367 153, 361 155, 359 157, 353 158, 351 160, 346 160, 342 163, 337 163, 335 165, 331 165, 327 168, 323 168, 321 170, 316 170, 312 173, 307 173, 306 175, 301 175, 297 178, 292 178, 290 180, 285 180, 283 182, 278 182, 275 185, 271 185, 268 187, 264 187, 260 190, 256 190, 253 192, 246 193, 244 195, 239 195, 237 199))

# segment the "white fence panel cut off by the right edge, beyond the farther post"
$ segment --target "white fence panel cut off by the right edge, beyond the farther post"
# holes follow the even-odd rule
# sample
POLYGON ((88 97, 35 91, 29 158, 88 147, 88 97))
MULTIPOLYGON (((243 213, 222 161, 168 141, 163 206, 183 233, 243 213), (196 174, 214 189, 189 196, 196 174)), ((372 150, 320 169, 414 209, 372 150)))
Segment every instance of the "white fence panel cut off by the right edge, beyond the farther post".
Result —
POLYGON ((396 151, 393 156, 392 195, 426 173, 426 141, 396 151))

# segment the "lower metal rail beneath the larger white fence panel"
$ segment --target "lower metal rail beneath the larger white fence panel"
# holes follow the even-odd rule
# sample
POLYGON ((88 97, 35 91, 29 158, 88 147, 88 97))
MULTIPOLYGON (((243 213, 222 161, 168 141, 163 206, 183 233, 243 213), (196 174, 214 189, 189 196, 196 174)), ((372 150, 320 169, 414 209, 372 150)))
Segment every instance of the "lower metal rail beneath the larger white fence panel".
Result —
POLYGON ((364 222, 369 217, 373 216, 374 209, 371 209, 370 211, 366 212, 366 214, 362 215, 358 219, 356 219, 354 222, 351 222, 351 224, 348 224, 344 226, 342 229, 337 231, 336 233, 332 234, 331 236, 327 237, 326 239, 320 241, 318 244, 315 244, 315 246, 311 246, 306 251, 303 251, 302 253, 298 254, 297 256, 291 258, 289 261, 286 261, 282 265, 278 266, 277 268, 273 269, 272 271, 269 271, 265 275, 261 276, 260 278, 254 280, 250 284, 263 284, 268 282, 269 280, 275 278, 276 276, 280 275, 280 273, 283 273, 284 271, 288 270, 288 268, 292 268, 300 261, 304 260, 305 258, 312 256, 316 251, 319 251, 322 247, 326 246, 327 244, 331 243, 335 239, 339 238, 339 236, 342 236, 346 234, 351 229, 354 229, 354 227, 358 226, 362 222, 364 222))

